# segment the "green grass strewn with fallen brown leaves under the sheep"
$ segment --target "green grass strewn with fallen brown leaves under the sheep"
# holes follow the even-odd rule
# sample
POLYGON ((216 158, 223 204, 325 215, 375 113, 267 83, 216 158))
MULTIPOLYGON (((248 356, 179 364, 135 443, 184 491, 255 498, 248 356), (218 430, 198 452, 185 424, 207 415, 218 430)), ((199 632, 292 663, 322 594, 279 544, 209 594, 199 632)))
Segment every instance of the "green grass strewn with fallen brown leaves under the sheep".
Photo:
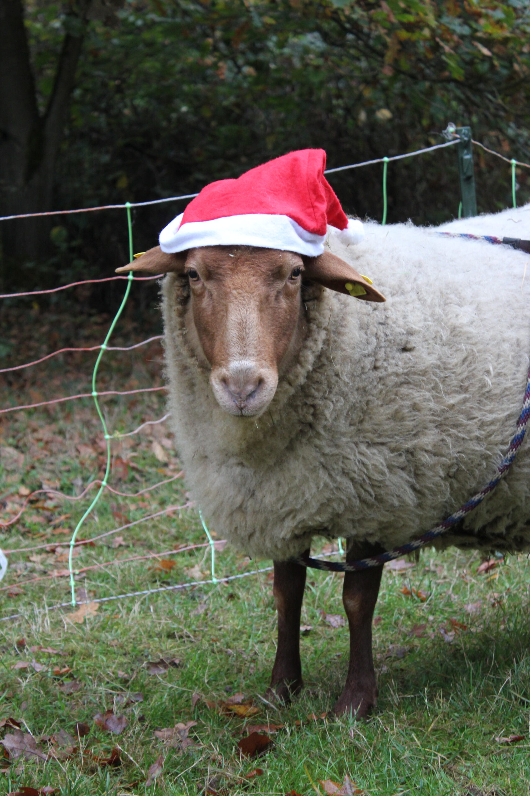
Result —
MULTIPOLYGON (((158 360, 160 351, 153 348, 120 360, 109 356, 101 384, 150 386, 161 378, 158 360)), ((90 365, 71 362, 52 361, 46 380, 43 372, 41 380, 38 374, 11 380, 4 390, 6 404, 26 403, 37 392, 44 397, 86 392, 90 365)), ((111 430, 129 431, 164 414, 158 394, 106 400, 104 407, 111 430)), ((2 458, 3 517, 13 517, 20 507, 21 487, 34 490, 44 483, 75 495, 103 472, 102 432, 90 401, 3 416, 0 431, 0 447, 24 456, 15 465, 9 456, 2 458)), ((169 437, 161 424, 113 443, 110 485, 135 493, 177 474, 179 462, 165 447, 169 437)), ((48 576, 68 567, 57 545, 69 536, 57 531, 71 531, 89 500, 65 505, 52 495, 36 497, 21 519, 0 533, 4 549, 48 546, 11 554, 0 584, 10 587, 0 591, 0 614, 18 615, 0 622, 0 720, 12 716, 44 751, 55 749, 56 759, 0 759, 0 794, 51 786, 65 796, 205 790, 230 796, 294 790, 308 796, 324 793, 320 780, 342 782, 346 774, 373 796, 520 796, 530 790, 530 580, 523 556, 500 561, 482 574, 477 554, 456 550, 424 552, 403 570, 385 568, 374 626, 379 702, 368 721, 356 722, 329 714, 346 677, 348 639, 346 627, 331 627, 322 611, 342 614, 342 576, 310 572, 302 615, 312 627, 301 641, 305 689, 291 706, 271 707, 260 699, 275 653, 268 572, 99 603, 94 615, 74 624, 68 621, 72 607, 52 610, 68 602, 68 578, 48 576), (43 579, 27 582, 37 577, 43 579), (407 593, 412 589, 427 599, 407 593), (57 654, 32 652, 31 646, 57 654), (161 658, 180 664, 149 673, 149 661, 161 658), (43 668, 14 668, 33 661, 43 668), (61 674, 54 667, 72 671, 61 674), (72 681, 79 687, 68 693, 72 681), (222 712, 219 703, 235 693, 253 700, 257 712, 246 717, 222 712), (120 734, 95 724, 96 714, 107 709, 126 716, 120 734), (311 719, 311 714, 327 715, 311 719), (185 751, 164 746, 154 735, 191 720, 197 723, 189 731, 194 745, 185 751), (88 724, 90 732, 75 738, 74 750, 67 745, 61 752, 48 739, 60 730, 75 736, 76 722, 88 724), (269 751, 257 760, 240 759, 237 743, 248 734, 246 728, 269 723, 284 725, 271 735, 269 751), (497 740, 510 735, 525 737, 513 743, 497 740), (113 748, 121 763, 105 765, 113 748), (161 755, 163 769, 146 786, 149 767, 161 755), (256 767, 263 773, 246 779, 256 767)), ((79 536, 94 537, 186 501, 182 478, 137 498, 107 493, 79 536)), ((174 565, 156 558, 126 561, 203 541, 196 510, 187 508, 83 546, 75 557, 77 569, 113 563, 76 576, 78 596, 99 599, 207 579, 207 548, 162 556, 174 565), (116 537, 123 544, 113 547, 116 537)), ((316 545, 314 552, 321 548, 316 545)), ((255 567, 230 548, 217 554, 219 577, 255 567)), ((3 726, 0 738, 13 733, 3 726)))

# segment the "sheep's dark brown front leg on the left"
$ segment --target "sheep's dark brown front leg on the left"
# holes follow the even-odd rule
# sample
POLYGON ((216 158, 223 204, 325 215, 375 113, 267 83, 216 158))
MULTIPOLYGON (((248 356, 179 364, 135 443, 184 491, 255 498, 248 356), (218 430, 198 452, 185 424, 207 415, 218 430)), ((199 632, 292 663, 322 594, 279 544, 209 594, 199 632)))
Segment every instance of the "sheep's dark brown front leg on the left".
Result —
MULTIPOLYGON (((309 551, 307 551, 309 552, 309 551)), ((300 611, 306 568, 292 561, 274 562, 274 604, 278 614, 278 646, 273 676, 265 696, 288 702, 302 688, 300 611)))

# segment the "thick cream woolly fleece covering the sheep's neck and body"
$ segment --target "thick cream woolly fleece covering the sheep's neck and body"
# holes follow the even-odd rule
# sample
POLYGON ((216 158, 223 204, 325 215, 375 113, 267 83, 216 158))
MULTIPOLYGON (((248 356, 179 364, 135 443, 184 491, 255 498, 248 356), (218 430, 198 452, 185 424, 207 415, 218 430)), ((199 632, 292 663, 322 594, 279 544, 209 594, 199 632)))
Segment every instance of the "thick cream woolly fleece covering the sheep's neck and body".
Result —
MULTIPOLYGON (((470 231, 509 234, 491 221, 470 231)), ((420 537, 489 482, 513 435, 530 357, 528 255, 410 224, 365 228, 357 247, 334 236, 329 246, 386 303, 317 291, 298 362, 257 419, 215 401, 184 333, 187 289, 164 279, 186 480, 219 537, 250 556, 285 560, 316 535, 388 550, 420 537)), ((528 451, 526 439, 497 490, 439 544, 530 547, 528 451)))

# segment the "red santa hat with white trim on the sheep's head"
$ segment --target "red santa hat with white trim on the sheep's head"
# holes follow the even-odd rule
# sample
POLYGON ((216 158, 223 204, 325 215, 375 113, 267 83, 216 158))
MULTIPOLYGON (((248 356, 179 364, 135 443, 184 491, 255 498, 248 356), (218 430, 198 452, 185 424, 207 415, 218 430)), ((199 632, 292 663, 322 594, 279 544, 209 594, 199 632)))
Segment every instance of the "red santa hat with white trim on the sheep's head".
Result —
POLYGON ((322 254, 327 226, 345 243, 362 240, 324 177, 324 150, 284 154, 237 180, 211 182, 160 234, 163 252, 197 246, 261 246, 311 257, 322 254))

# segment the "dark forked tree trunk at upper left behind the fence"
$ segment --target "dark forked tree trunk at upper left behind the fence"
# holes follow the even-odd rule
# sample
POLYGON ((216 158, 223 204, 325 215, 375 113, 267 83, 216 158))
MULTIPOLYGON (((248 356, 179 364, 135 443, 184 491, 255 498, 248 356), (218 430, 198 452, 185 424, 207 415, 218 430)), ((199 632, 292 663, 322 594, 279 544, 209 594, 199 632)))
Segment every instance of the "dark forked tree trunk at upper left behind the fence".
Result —
MULTIPOLYGON (((22 0, 0 0, 0 216, 51 210, 56 155, 74 87, 85 18, 75 18, 39 115, 22 0)), ((48 218, 0 221, 3 259, 27 262, 49 248, 48 218)))

